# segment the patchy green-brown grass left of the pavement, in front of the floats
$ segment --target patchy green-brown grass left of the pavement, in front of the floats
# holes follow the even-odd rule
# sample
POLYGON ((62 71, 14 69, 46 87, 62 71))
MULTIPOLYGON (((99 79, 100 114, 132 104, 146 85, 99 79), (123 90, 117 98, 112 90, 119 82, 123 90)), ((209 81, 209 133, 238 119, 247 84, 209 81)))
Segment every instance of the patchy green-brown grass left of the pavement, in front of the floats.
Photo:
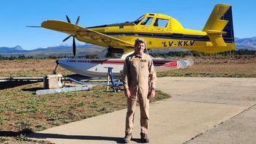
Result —
MULTIPOLYGON (((25 134, 127 107, 123 91, 113 93, 105 86, 94 86, 91 91, 36 95, 34 90, 40 88, 42 83, 24 83, 0 90, 0 131, 20 132, 11 142, 16 139, 21 143, 27 140, 25 134)), ((157 91, 152 101, 169 97, 157 91)), ((4 140, 8 141, 1 141, 4 140)))

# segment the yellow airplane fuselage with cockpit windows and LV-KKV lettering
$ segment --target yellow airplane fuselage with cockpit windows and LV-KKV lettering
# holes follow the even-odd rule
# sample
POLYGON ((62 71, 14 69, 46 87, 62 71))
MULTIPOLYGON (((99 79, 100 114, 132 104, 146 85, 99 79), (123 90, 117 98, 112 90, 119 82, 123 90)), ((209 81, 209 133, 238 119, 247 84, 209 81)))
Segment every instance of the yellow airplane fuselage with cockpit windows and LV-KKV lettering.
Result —
MULTIPOLYGON (((213 46, 206 31, 184 29, 175 18, 161 14, 148 13, 135 22, 94 26, 87 29, 131 43, 138 37, 142 37, 146 40, 148 49, 187 48, 203 51, 206 46, 213 46), (161 25, 156 24, 159 20, 162 21, 161 25)), ((227 42, 225 50, 228 49, 228 45, 230 45, 230 50, 233 50, 233 39, 224 37, 224 40, 227 42)), ((96 43, 96 45, 100 44, 96 43)), ((102 46, 108 47, 108 45, 102 46)), ((121 47, 117 46, 116 48, 121 47)))

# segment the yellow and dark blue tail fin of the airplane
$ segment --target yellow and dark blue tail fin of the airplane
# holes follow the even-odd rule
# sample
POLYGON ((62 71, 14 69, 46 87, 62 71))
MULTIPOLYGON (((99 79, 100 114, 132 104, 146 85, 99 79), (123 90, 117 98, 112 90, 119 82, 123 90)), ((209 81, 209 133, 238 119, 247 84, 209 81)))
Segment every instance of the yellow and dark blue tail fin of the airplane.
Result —
POLYGON ((213 53, 235 50, 232 7, 227 4, 217 4, 211 12, 203 28, 214 46, 213 53))

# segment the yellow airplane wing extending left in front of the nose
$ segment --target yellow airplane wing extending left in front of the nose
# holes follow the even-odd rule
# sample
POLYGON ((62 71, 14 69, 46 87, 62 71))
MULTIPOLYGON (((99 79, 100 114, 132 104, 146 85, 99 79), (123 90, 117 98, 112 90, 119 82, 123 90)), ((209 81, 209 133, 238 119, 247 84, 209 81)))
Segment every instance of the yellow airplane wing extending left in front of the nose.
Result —
POLYGON ((88 42, 94 45, 100 45, 103 47, 112 48, 133 48, 134 44, 126 42, 115 37, 110 37, 106 34, 102 34, 98 31, 93 31, 91 29, 86 29, 81 26, 67 23, 59 20, 45 20, 42 22, 41 26, 45 29, 51 29, 53 31, 60 31, 65 34, 74 36, 81 42, 88 42))

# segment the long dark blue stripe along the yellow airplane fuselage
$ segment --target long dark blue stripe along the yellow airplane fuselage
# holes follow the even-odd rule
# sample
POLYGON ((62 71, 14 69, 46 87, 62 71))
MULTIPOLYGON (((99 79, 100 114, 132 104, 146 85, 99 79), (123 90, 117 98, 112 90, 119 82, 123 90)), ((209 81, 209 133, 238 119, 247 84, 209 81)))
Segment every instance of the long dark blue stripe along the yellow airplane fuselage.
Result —
MULTIPOLYGON (((159 33, 135 33, 135 32, 106 32, 110 36, 136 36, 136 37, 152 37, 152 38, 161 38, 161 39, 184 39, 184 40, 196 40, 196 41, 205 41, 210 42, 208 36, 200 35, 189 35, 189 34, 159 34, 159 33)), ((232 38, 223 37, 225 42, 233 42, 232 38)))

